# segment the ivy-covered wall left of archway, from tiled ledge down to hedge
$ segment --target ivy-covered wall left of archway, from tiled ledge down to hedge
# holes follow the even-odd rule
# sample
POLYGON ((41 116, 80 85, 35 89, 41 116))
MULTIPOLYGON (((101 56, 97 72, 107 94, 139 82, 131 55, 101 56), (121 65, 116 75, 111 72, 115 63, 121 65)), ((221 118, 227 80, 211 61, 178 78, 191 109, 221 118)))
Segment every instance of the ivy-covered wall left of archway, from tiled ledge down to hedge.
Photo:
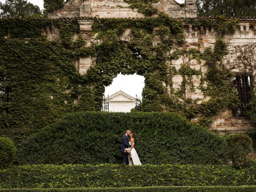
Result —
POLYGON ((76 70, 74 51, 64 48, 84 43, 83 38, 71 42, 76 20, 1 19, 0 26, 1 136, 20 143, 68 113, 99 110, 94 90, 76 70), (52 25, 60 29, 61 41, 41 35, 52 25))

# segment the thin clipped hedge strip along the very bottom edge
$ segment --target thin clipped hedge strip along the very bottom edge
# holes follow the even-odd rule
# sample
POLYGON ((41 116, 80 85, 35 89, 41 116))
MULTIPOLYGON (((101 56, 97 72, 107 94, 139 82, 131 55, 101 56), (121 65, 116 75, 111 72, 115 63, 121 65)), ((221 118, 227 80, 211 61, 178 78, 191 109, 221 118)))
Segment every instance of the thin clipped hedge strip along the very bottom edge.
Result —
POLYGON ((162 186, 130 188, 0 189, 0 192, 255 192, 256 186, 162 186))

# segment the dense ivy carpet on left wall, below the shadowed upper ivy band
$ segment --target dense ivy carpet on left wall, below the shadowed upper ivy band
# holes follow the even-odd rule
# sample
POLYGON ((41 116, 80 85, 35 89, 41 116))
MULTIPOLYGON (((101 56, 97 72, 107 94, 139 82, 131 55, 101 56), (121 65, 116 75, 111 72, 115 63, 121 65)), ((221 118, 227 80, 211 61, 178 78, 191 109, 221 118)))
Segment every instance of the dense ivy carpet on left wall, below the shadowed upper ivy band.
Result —
POLYGON ((73 59, 74 54, 58 41, 0 39, 0 77, 5 78, 1 88, 12 88, 11 101, 1 103, 0 135, 20 143, 78 107, 94 110, 89 108, 90 101, 85 103, 88 98, 81 99, 84 106, 74 104, 89 88, 73 59))

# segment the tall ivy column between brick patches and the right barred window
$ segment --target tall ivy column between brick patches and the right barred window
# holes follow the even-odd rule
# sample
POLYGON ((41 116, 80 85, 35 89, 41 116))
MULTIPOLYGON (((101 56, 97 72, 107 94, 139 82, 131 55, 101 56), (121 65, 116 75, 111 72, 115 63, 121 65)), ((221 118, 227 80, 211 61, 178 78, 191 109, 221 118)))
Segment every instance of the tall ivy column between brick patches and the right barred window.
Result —
POLYGON ((217 38, 214 50, 206 48, 202 59, 206 60, 208 70, 206 78, 201 78, 200 89, 205 96, 210 96, 210 100, 200 104, 202 116, 199 124, 208 126, 212 123, 212 116, 225 107, 233 108, 239 103, 239 98, 234 87, 230 86, 232 72, 222 63, 222 57, 228 54, 227 44, 222 38, 217 38), (207 82, 204 88, 203 83, 207 82))

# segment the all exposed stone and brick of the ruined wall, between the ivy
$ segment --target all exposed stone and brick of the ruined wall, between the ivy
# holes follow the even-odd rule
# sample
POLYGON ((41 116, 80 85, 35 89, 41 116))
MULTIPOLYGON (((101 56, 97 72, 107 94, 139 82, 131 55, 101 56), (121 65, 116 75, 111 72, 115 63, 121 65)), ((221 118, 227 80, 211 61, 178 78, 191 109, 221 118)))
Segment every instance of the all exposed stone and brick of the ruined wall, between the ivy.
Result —
MULTIPOLYGON (((66 2, 63 8, 56 10, 55 12, 49 14, 50 18, 74 18, 78 17, 78 23, 80 25, 80 34, 82 34, 90 46, 93 41, 91 36, 91 26, 93 21, 90 20, 90 17, 100 17, 100 18, 141 18, 145 17, 143 14, 138 13, 136 10, 131 10, 129 8, 119 8, 117 5, 122 5, 127 7, 123 0, 69 0, 66 2)), ((178 4, 174 0, 162 0, 161 3, 154 4, 160 11, 166 12, 171 17, 196 17, 196 5, 195 0, 186 0, 185 4, 178 4)), ((66 20, 66 19, 65 19, 66 20)), ((218 36, 218 30, 214 27, 192 27, 191 24, 186 22, 184 18, 184 34, 186 37, 185 43, 176 44, 175 48, 195 48, 204 51, 208 46, 214 47, 214 42, 218 36)), ((154 30, 158 30, 157 28, 154 30)), ((48 39, 58 39, 59 30, 54 26, 42 29, 42 34, 47 35, 48 39)), ((77 38, 78 34, 74 34, 74 40, 77 38)), ((130 29, 126 29, 124 34, 120 36, 121 40, 129 40, 130 29)), ((256 79, 256 56, 255 62, 244 66, 240 60, 240 52, 237 52, 237 49, 242 48, 243 46, 251 47, 254 46, 256 49, 256 19, 255 18, 244 18, 240 19, 239 24, 236 26, 235 31, 225 31, 224 40, 228 42, 230 54, 225 56, 224 63, 226 67, 229 68, 232 72, 235 73, 244 73, 247 72, 251 74, 256 79), (253 67, 253 66, 254 67, 253 67)), ((159 39, 155 39, 154 44, 156 44, 159 39)), ((255 52, 256 50, 254 50, 255 52)), ((207 67, 204 66, 205 61, 202 60, 201 64, 197 60, 189 60, 186 55, 180 57, 178 60, 173 60, 170 62, 171 66, 174 66, 177 70, 181 67, 181 64, 187 63, 191 68, 196 70, 202 70, 202 76, 205 75, 207 67)), ((85 74, 90 66, 96 64, 96 57, 80 57, 75 61, 76 67, 80 74, 85 74)), ((190 91, 190 83, 187 77, 186 84, 186 98, 192 100, 199 99, 198 104, 203 101, 207 101, 210 97, 204 96, 202 91, 197 87, 200 85, 201 75, 192 77, 193 83, 195 86, 195 91, 190 91)), ((178 90, 180 88, 181 82, 183 80, 182 76, 175 75, 173 77, 173 88, 178 90)), ((255 84, 255 82, 252 82, 255 84)), ((168 88, 168 85, 163 82, 163 84, 168 88)), ((207 85, 205 85, 207 86, 207 85)), ((169 87, 170 89, 170 87, 169 87)), ((198 117, 192 119, 196 121, 198 117)), ((250 119, 247 118, 235 118, 232 117, 232 110, 229 108, 224 108, 218 114, 214 116, 214 123, 210 126, 210 130, 225 133, 225 132, 246 132, 254 130, 255 127, 252 125, 250 119)))

